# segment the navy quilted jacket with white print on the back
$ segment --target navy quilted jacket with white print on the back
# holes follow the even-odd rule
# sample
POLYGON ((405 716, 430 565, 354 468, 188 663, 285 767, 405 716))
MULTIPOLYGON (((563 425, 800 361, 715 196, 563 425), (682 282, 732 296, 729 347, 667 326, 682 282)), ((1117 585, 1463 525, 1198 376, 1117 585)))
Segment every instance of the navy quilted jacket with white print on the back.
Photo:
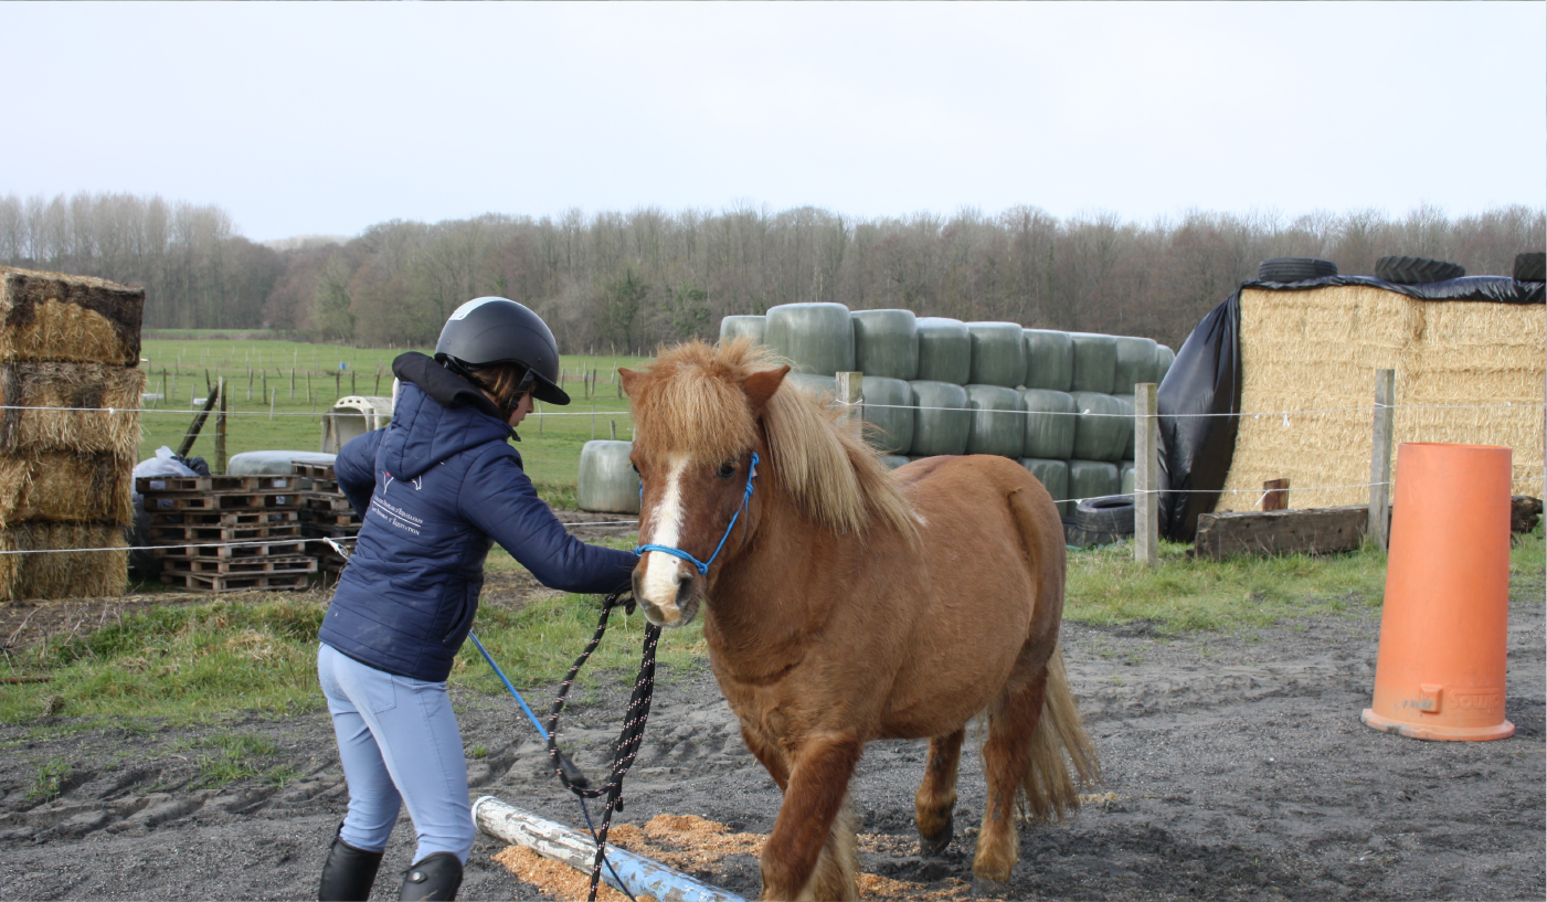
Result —
POLYGON ((364 526, 323 642, 387 673, 444 681, 478 611, 492 542, 546 586, 628 585, 637 557, 565 532, 481 391, 424 354, 399 356, 393 373, 402 391, 391 425, 343 446, 334 466, 364 526))

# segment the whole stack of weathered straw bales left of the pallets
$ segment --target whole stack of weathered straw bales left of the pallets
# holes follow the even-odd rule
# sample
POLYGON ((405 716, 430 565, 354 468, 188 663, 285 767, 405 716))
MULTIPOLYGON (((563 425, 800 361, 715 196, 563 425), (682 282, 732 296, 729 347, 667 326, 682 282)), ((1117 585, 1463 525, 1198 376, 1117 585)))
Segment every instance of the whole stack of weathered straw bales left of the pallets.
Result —
POLYGON ((145 292, 0 266, 0 600, 122 594, 145 292))

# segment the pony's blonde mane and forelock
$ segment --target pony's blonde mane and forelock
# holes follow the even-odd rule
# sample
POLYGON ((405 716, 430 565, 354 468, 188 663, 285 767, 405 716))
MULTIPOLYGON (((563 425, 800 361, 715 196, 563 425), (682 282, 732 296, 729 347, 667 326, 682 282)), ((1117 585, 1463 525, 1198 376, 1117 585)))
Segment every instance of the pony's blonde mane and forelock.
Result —
MULTIPOLYGON (((630 387, 634 444, 645 453, 687 453, 722 461, 756 441, 747 376, 780 364, 749 339, 667 348, 630 387)), ((769 461, 778 483, 806 515, 837 532, 865 534, 874 524, 908 542, 917 524, 908 501, 876 450, 846 425, 840 408, 787 379, 763 412, 769 461)))

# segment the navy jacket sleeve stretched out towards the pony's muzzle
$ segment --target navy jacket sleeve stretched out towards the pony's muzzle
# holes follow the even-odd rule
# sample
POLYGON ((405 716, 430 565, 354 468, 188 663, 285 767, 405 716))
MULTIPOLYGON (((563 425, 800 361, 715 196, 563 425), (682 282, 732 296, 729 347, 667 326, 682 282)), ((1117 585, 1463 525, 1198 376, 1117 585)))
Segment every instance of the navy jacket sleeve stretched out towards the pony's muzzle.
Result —
POLYGON ((458 507, 549 588, 597 596, 613 593, 628 588, 630 574, 639 563, 631 551, 586 545, 565 532, 563 523, 507 453, 481 455, 469 467, 458 507))

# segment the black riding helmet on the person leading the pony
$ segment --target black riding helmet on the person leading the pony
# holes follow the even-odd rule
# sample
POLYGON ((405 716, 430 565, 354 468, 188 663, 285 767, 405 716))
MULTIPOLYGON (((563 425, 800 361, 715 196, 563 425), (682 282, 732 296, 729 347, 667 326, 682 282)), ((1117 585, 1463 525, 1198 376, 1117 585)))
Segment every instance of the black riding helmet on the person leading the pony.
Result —
POLYGON ((526 367, 532 395, 569 404, 558 387, 558 342, 531 309, 506 297, 475 297, 456 308, 435 343, 436 362, 463 376, 493 364, 526 367))

